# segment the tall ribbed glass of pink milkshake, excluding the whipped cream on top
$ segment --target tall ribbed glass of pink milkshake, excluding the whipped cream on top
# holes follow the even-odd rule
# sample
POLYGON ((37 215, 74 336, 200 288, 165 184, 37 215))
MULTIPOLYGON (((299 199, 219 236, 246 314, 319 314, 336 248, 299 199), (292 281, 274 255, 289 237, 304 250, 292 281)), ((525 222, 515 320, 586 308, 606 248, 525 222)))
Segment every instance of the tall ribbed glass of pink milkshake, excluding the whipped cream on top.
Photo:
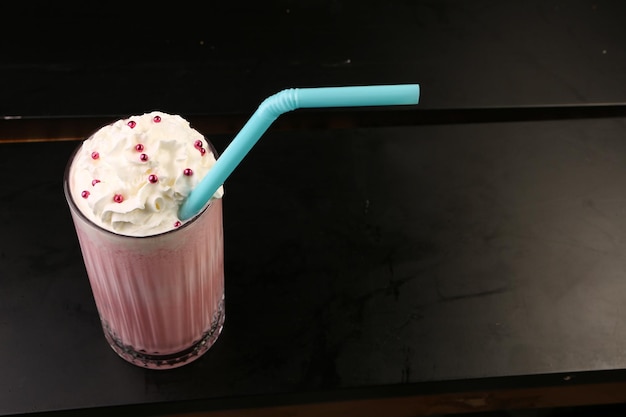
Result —
POLYGON ((123 359, 145 368, 194 361, 224 324, 222 200, 165 233, 116 234, 90 221, 73 199, 77 152, 63 188, 106 340, 123 359))

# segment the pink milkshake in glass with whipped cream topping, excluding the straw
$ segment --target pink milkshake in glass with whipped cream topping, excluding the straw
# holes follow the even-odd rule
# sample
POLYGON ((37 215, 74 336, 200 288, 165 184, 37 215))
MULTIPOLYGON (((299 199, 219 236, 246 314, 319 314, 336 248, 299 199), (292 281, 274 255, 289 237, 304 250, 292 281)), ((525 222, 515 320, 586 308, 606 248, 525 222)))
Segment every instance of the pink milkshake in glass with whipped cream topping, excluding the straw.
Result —
POLYGON ((150 369, 199 358, 224 324, 223 190, 192 219, 176 219, 215 152, 198 132, 183 129, 183 119, 168 117, 118 121, 104 142, 94 134, 72 155, 64 178, 104 335, 123 359, 150 369), (161 146, 173 135, 183 145, 161 146))

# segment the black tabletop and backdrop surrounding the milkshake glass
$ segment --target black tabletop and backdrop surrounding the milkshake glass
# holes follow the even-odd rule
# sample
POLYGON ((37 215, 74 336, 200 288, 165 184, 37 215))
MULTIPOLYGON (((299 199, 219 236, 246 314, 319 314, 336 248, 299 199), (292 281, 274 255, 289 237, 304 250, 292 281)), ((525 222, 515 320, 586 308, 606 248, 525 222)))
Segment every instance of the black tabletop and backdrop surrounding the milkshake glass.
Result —
POLYGON ((138 6, 1 14, 39 35, 2 37, 0 415, 626 402, 625 3, 205 7, 163 11, 183 33, 120 26, 138 6), (160 109, 221 152, 281 89, 403 82, 418 106, 285 115, 228 178, 203 358, 115 355, 61 187, 78 139, 160 109))

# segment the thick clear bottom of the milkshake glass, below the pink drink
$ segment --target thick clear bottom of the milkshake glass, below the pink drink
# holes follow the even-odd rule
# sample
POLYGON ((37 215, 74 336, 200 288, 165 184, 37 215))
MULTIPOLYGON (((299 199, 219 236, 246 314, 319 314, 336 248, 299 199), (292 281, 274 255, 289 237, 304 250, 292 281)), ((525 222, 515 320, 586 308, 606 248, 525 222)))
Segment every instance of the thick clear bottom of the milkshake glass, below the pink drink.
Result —
POLYGON ((104 330, 104 337, 109 342, 109 345, 122 359, 133 365, 141 366, 142 368, 172 369, 193 362, 206 353, 222 332, 224 318, 224 303, 221 302, 213 316, 211 327, 202 335, 200 340, 185 350, 167 355, 151 355, 137 351, 132 346, 125 345, 115 336, 105 322, 102 323, 102 328, 104 330))

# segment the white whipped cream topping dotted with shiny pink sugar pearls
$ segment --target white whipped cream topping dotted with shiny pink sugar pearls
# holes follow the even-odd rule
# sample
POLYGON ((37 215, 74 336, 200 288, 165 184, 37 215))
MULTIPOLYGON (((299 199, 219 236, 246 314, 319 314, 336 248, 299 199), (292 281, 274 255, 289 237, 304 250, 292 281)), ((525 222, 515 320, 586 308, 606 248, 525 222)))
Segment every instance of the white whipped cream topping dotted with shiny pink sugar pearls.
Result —
MULTIPOLYGON (((95 224, 128 236, 182 225, 178 209, 215 163, 204 136, 178 115, 151 112, 102 127, 70 167, 72 197, 95 224)), ((220 187, 212 198, 224 194, 220 187)))

